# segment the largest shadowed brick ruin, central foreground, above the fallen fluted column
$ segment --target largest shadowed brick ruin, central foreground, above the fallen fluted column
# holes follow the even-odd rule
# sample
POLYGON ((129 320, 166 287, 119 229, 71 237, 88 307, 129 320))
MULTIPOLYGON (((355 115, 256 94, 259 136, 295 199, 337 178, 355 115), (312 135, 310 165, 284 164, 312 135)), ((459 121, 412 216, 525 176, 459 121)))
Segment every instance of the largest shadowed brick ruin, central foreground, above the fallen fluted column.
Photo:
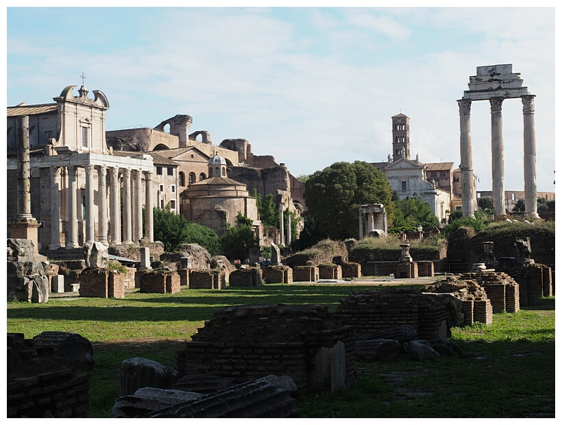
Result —
POLYGON ((223 308, 178 352, 182 374, 208 373, 236 383, 289 375, 300 392, 313 389, 321 347, 345 345, 345 385, 355 379, 355 335, 324 306, 254 304, 223 308), (220 342, 219 342, 220 341, 220 342))

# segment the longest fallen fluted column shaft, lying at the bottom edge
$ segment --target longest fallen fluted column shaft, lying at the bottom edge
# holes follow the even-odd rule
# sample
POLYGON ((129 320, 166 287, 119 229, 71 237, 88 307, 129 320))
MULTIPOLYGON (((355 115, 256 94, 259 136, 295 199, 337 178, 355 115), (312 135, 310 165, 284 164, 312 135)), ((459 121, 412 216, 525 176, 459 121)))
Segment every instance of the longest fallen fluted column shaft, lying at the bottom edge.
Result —
MULTIPOLYGON (((154 411, 147 417, 297 417, 289 376, 266 376, 194 401, 154 411)), ((291 380, 292 381, 292 380, 291 380)))

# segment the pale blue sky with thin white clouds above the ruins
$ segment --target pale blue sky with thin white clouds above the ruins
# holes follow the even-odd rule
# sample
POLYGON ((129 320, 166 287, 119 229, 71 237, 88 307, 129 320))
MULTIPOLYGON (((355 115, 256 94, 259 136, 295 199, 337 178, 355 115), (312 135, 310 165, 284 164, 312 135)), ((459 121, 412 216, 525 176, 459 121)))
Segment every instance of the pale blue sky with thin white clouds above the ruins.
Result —
MULTIPOLYGON (((84 73, 90 96, 101 90, 108 98, 107 130, 188 114, 191 132, 208 131, 215 145, 245 138, 254 154, 273 155, 297 176, 338 161, 387 160, 391 117, 400 112, 410 117, 412 159, 459 167, 456 101, 469 76, 477 66, 513 64, 536 95, 537 191, 554 191, 553 7, 8 7, 5 14, 7 106, 52 103, 64 87, 80 87, 84 73)), ((506 99, 502 111, 504 189, 523 191, 521 100, 506 99)), ((488 101, 472 102, 471 123, 476 189, 491 190, 488 101)))

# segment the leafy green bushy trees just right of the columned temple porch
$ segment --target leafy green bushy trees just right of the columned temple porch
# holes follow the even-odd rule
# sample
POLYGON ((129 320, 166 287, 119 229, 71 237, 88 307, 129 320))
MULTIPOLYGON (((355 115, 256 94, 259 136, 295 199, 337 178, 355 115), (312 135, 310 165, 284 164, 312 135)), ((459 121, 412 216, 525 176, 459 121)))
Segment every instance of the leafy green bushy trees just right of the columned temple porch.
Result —
POLYGON ((164 210, 153 209, 154 239, 164 243, 164 251, 174 252, 182 243, 197 243, 211 255, 221 254, 217 233, 197 223, 189 223, 183 215, 174 213, 170 204, 164 210))

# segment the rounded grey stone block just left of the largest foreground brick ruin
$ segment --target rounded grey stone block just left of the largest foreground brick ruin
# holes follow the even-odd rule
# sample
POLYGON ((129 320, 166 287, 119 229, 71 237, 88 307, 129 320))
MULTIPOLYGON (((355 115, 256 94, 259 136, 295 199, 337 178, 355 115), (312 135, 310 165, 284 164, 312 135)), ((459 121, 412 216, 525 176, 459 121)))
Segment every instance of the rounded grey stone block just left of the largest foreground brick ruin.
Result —
POLYGON ((121 363, 121 396, 133 394, 143 387, 169 388, 175 372, 170 367, 142 357, 121 363))

